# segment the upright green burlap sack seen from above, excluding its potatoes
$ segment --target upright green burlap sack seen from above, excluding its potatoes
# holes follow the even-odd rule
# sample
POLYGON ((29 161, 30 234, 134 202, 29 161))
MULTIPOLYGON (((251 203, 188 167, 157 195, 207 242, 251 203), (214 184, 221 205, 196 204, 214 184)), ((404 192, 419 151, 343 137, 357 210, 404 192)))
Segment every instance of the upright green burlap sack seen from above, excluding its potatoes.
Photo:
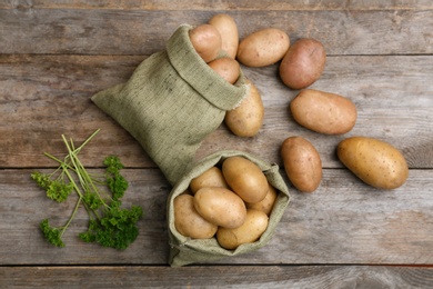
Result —
POLYGON ((289 201, 289 189, 279 172, 278 165, 268 163, 255 156, 235 150, 214 152, 203 158, 179 180, 169 196, 167 219, 169 222, 170 237, 170 265, 172 267, 180 267, 195 262, 209 262, 224 257, 238 256, 258 250, 271 239, 289 201), (191 239, 179 233, 174 227, 173 200, 177 196, 183 193, 188 189, 193 178, 200 176, 213 166, 221 166, 224 159, 232 156, 244 157, 258 165, 266 176, 269 183, 279 191, 279 196, 272 209, 268 228, 261 238, 255 242, 241 245, 235 250, 226 250, 219 246, 215 238, 191 239))

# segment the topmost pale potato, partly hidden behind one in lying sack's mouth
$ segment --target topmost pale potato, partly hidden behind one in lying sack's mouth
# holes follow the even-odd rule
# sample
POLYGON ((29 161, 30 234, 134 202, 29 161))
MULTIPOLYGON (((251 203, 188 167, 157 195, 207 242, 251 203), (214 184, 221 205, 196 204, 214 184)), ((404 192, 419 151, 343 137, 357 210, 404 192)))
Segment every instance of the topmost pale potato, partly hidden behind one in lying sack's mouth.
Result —
POLYGON ((236 57, 239 47, 239 32, 234 19, 225 13, 218 13, 209 20, 209 24, 216 28, 221 34, 222 50, 232 59, 236 57))

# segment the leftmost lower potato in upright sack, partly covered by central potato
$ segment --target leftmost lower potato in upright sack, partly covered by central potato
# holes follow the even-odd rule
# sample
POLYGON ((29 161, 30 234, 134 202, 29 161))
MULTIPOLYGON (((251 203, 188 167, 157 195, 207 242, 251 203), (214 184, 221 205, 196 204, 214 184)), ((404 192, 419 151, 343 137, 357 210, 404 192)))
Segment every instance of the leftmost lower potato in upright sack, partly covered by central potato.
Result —
POLYGON ((173 200, 174 227, 184 237, 194 239, 212 238, 218 226, 201 217, 193 205, 194 197, 190 195, 179 195, 173 200))

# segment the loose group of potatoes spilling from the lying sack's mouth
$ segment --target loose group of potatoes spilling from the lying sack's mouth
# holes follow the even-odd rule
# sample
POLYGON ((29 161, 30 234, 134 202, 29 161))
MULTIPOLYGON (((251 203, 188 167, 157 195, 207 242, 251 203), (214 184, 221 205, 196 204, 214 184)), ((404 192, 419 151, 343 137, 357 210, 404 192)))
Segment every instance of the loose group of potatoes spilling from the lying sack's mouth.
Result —
MULTIPOLYGON (((350 99, 309 88, 320 79, 326 62, 325 49, 320 41, 300 38, 291 46, 289 36, 276 28, 261 29, 240 40, 235 21, 224 13, 194 28, 190 36, 203 60, 231 83, 239 78, 240 64, 260 68, 280 62, 282 82, 290 89, 300 90, 289 106, 300 126, 326 136, 346 133, 355 126, 358 111, 350 99), (226 57, 216 59, 221 50, 226 57)), ((264 118, 260 92, 251 80, 248 83, 251 88, 249 94, 238 108, 228 111, 224 119, 228 128, 239 137, 254 137, 264 118)), ((409 168, 403 155, 384 141, 367 137, 348 138, 338 144, 336 151, 340 161, 372 187, 394 189, 407 179, 409 168)), ((311 142, 299 136, 286 138, 280 155, 288 178, 298 190, 312 192, 318 189, 322 162, 311 142)))

